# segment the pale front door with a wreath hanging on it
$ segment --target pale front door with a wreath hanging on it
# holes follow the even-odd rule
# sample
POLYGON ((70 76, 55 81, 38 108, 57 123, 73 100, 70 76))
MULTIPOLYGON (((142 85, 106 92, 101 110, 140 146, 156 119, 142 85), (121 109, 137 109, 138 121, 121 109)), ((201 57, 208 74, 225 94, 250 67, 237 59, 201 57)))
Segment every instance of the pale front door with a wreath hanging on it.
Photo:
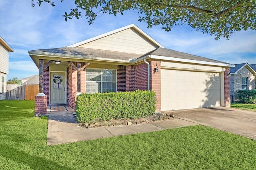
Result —
POLYGON ((66 104, 66 74, 51 72, 50 104, 66 104))

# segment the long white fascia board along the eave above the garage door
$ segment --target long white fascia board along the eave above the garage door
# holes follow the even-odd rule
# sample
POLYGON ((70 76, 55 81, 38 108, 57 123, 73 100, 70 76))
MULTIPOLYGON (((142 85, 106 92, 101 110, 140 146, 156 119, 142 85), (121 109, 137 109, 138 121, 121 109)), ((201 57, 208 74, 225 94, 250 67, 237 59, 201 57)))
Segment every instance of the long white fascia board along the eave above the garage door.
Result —
POLYGON ((190 60, 190 59, 180 59, 175 57, 165 57, 165 56, 158 56, 158 55, 150 55, 151 59, 158 59, 158 60, 167 60, 167 61, 178 61, 184 63, 196 63, 196 64, 206 64, 206 65, 213 65, 213 66, 224 66, 224 67, 234 67, 234 64, 226 64, 226 63, 214 63, 208 61, 198 61, 198 60, 190 60))

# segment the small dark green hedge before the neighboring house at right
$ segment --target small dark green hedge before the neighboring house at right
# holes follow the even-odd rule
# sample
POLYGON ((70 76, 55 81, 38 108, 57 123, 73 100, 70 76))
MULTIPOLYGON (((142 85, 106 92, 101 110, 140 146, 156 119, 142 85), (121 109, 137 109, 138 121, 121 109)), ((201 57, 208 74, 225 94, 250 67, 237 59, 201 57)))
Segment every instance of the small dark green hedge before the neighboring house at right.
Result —
POLYGON ((237 90, 237 102, 256 104, 256 90, 237 90))

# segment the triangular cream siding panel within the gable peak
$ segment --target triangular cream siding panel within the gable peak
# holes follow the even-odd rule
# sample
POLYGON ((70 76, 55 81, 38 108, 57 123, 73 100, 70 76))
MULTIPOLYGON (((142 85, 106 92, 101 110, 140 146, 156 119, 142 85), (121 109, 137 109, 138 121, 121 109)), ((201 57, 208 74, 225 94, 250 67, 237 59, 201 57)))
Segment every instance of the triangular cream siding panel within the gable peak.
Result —
POLYGON ((78 47, 134 54, 145 54, 158 48, 157 45, 133 28, 90 41, 78 47))

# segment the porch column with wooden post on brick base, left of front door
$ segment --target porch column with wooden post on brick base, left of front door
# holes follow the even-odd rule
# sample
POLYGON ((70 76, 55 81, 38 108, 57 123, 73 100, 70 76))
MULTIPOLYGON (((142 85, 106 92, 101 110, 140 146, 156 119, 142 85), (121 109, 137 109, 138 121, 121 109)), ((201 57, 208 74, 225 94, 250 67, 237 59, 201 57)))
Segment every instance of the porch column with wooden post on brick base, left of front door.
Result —
POLYGON ((44 60, 39 59, 39 93, 35 96, 34 115, 47 113, 47 96, 44 94, 44 60))

